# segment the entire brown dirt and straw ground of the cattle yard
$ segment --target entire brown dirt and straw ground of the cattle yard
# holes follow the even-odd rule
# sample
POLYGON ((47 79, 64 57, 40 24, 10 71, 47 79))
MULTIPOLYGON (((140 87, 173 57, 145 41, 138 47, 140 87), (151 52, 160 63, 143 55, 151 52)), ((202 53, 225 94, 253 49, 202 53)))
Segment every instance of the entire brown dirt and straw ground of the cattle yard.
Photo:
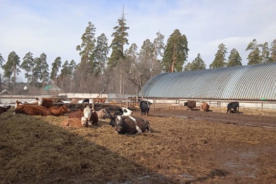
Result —
POLYGON ((276 183, 276 111, 156 106, 143 118, 151 133, 120 135, 105 121, 74 129, 60 126, 66 117, 3 113, 0 182, 276 183))

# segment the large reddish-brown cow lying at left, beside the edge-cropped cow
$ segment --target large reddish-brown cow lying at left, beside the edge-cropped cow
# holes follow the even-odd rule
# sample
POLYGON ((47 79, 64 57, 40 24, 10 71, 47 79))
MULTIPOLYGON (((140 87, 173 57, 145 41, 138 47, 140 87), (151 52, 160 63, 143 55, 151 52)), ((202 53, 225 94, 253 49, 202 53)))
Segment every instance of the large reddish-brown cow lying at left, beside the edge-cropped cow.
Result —
POLYGON ((54 115, 48 108, 38 105, 22 105, 16 100, 15 113, 24 113, 30 116, 49 116, 54 115))

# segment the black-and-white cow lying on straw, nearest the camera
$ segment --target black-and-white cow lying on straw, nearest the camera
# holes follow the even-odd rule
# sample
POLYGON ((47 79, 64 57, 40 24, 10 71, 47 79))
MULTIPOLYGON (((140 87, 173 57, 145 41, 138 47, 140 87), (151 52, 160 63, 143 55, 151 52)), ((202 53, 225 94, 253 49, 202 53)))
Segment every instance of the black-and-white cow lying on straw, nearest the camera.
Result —
POLYGON ((120 134, 140 134, 146 130, 150 133, 150 124, 144 118, 120 115, 115 122, 114 130, 120 134))

